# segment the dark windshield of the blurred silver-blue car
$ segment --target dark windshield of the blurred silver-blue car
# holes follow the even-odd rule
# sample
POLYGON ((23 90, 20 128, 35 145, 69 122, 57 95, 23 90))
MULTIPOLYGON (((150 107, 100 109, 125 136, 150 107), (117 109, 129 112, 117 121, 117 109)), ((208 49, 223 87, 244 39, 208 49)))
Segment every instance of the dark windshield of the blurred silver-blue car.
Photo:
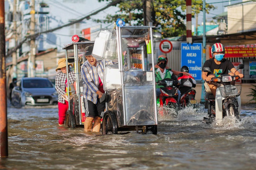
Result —
POLYGON ((23 80, 23 88, 52 88, 53 84, 49 80, 23 80))

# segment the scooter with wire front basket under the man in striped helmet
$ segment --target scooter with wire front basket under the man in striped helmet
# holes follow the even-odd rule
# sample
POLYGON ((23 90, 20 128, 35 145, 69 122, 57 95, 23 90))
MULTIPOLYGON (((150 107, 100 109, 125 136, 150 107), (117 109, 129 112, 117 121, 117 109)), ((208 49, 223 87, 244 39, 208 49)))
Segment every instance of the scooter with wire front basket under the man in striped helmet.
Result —
MULTIPOLYGON (((240 64, 236 71, 243 68, 244 65, 240 64)), ((209 67, 203 68, 203 71, 211 72, 209 67)), ((211 78, 210 81, 217 83, 216 97, 214 98, 213 94, 205 91, 204 99, 206 100, 205 108, 208 109, 208 118, 204 117, 203 123, 211 124, 215 121, 216 125, 221 125, 226 116, 236 117, 236 122, 240 121, 241 85, 231 85, 232 81, 238 79, 240 79, 238 75, 229 74, 211 78)))

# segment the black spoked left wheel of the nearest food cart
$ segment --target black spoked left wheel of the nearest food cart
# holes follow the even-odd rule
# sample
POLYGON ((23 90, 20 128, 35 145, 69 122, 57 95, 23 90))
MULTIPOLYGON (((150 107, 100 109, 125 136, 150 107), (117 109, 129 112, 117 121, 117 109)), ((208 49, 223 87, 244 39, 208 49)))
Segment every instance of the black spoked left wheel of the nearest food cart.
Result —
POLYGON ((117 120, 111 111, 106 111, 102 118, 102 134, 117 134, 117 120))

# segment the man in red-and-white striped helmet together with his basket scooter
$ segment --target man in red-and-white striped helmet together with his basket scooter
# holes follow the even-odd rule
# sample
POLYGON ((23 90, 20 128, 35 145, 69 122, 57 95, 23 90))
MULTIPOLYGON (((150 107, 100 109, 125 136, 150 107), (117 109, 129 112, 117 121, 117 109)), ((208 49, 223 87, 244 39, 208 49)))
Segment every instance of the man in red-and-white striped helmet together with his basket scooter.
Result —
MULTIPOLYGON (((216 124, 219 125, 225 116, 239 119, 241 86, 239 88, 232 85, 235 85, 234 80, 237 80, 234 75, 242 78, 243 74, 238 72, 228 59, 224 59, 223 44, 215 43, 211 47, 211 55, 213 58, 207 60, 202 68, 202 79, 205 80, 204 88, 207 92, 204 98, 208 101, 205 105, 208 109, 208 117, 204 117, 202 122, 211 124, 216 120, 216 124)), ((238 68, 243 68, 243 65, 238 68)))

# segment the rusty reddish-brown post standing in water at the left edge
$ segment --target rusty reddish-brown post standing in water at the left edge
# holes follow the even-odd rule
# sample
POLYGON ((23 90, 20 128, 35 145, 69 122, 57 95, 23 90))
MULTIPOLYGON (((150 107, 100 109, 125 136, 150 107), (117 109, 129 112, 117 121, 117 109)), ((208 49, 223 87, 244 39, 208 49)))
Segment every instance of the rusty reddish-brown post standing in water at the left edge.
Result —
POLYGON ((6 66, 5 66, 5 1, 0 0, 0 157, 8 156, 6 66))

